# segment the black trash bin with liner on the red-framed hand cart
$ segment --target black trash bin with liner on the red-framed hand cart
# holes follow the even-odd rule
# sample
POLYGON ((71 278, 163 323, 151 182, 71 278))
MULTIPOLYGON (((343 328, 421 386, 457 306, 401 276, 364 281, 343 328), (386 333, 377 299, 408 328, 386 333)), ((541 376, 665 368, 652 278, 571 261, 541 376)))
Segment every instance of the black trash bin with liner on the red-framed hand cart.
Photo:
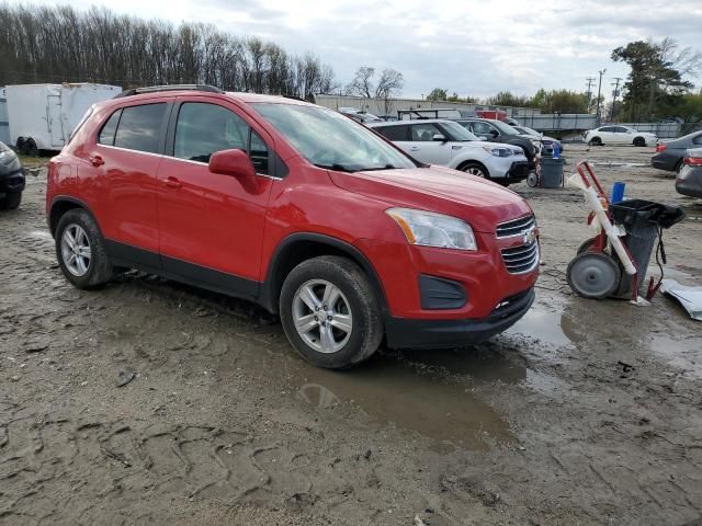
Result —
MULTIPOLYGON (((632 254, 638 271, 638 294, 644 291, 646 272, 660 228, 669 228, 682 220, 684 213, 678 206, 668 206, 644 199, 627 199, 610 205, 612 218, 623 225, 624 244, 632 254)), ((631 298, 633 278, 622 270, 622 281, 614 296, 631 298)))

